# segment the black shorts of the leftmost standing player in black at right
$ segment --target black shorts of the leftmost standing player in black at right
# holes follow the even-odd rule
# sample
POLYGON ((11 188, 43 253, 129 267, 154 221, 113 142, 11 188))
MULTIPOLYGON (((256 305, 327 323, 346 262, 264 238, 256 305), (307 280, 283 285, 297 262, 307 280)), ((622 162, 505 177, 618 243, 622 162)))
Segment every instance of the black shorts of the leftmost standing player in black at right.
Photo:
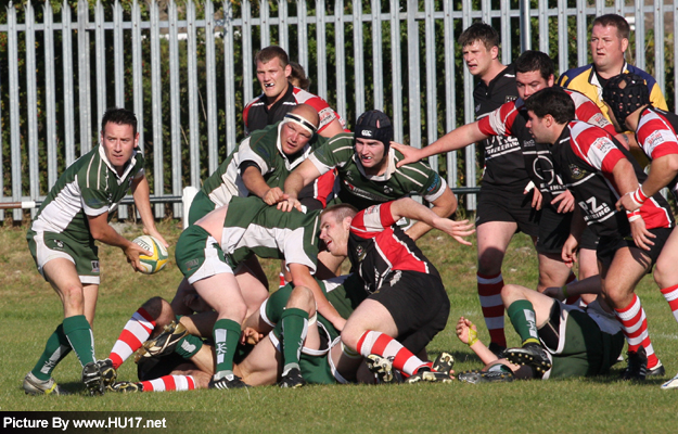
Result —
POLYGON ((523 194, 523 190, 499 190, 483 186, 478 196, 475 226, 489 221, 511 221, 517 224, 517 231, 530 237, 539 234, 540 212, 532 207, 533 194, 523 194))

